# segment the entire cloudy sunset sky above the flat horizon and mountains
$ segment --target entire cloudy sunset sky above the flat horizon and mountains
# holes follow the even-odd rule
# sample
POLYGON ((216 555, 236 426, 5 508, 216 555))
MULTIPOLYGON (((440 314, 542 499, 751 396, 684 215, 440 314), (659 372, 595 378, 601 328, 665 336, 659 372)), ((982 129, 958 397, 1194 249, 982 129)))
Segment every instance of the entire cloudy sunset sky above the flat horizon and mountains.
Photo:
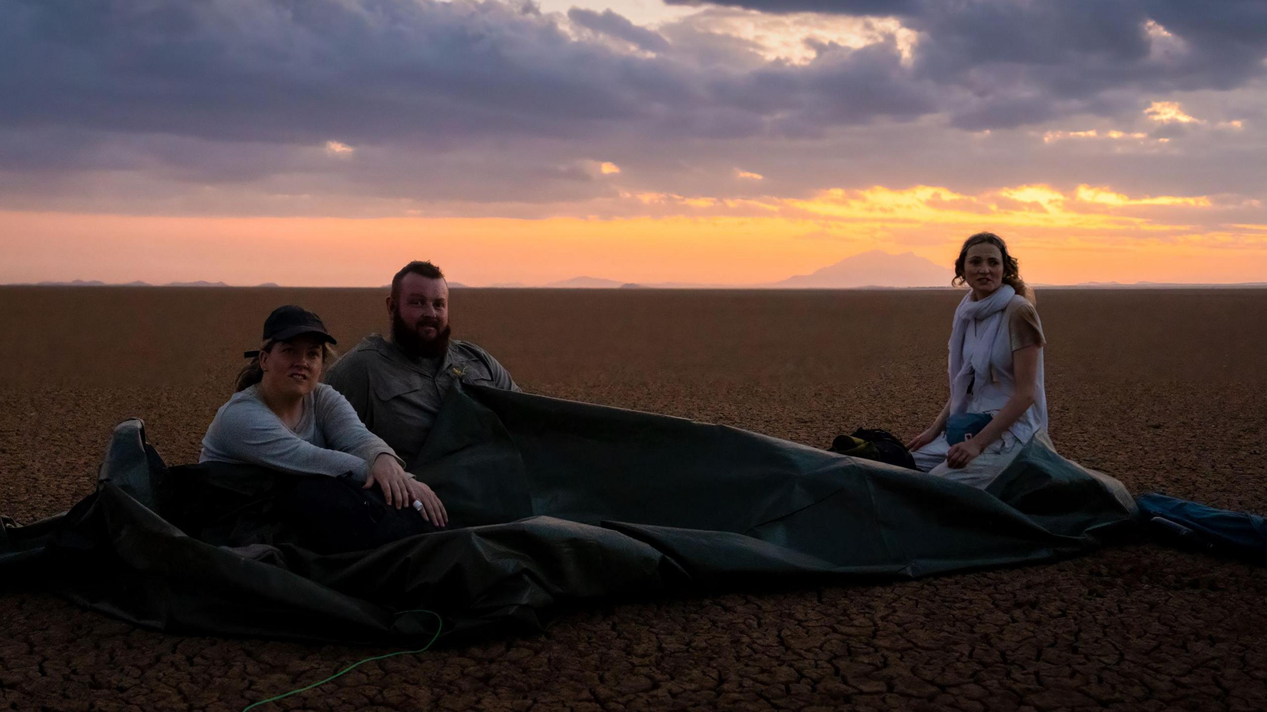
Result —
POLYGON ((0 4, 0 283, 1267 281, 1262 0, 0 4))

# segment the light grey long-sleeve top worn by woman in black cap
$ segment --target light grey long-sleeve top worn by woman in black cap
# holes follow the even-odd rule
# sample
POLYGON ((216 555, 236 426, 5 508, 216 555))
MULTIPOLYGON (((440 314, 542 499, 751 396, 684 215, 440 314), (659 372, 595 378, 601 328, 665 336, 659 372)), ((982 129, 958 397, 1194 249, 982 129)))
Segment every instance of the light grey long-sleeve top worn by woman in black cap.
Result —
POLYGON ((347 399, 326 384, 317 384, 304 397, 304 413, 295 429, 269 409, 257 389, 252 385, 234 393, 215 412, 199 462, 264 465, 302 475, 351 474, 364 483, 379 455, 397 457, 388 443, 365 428, 347 399))

